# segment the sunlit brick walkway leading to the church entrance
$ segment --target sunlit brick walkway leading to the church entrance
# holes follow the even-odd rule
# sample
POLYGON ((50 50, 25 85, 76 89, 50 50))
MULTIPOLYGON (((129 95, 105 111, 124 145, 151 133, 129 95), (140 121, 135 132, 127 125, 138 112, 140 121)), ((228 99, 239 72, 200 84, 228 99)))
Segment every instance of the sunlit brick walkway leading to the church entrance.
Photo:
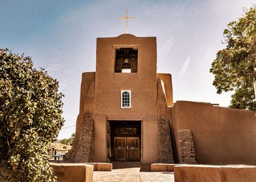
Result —
POLYGON ((112 172, 93 172, 93 182, 174 182, 173 172, 140 172, 140 168, 124 168, 112 172))

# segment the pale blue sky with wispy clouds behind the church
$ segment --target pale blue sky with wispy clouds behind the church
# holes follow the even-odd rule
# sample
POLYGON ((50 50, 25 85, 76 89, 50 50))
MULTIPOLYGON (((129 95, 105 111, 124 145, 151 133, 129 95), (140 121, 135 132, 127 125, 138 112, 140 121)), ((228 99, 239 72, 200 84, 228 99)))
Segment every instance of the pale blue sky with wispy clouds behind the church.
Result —
POLYGON ((227 107, 230 93, 218 95, 209 72, 227 23, 242 16, 251 0, 208 1, 70 1, 1 0, 0 47, 31 56, 59 81, 66 122, 59 138, 75 131, 82 72, 95 71, 96 38, 157 37, 157 72, 171 73, 174 101, 219 103, 227 107), (68 128, 65 128, 68 127, 68 128))

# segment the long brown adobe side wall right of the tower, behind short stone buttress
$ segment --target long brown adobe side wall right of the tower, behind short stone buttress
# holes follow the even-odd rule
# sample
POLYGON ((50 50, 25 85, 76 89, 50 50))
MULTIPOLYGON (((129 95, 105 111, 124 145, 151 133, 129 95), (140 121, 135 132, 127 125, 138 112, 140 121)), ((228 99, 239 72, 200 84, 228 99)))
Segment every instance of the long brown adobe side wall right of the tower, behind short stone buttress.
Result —
POLYGON ((172 122, 178 153, 178 131, 191 130, 199 164, 256 164, 255 112, 177 101, 172 122))

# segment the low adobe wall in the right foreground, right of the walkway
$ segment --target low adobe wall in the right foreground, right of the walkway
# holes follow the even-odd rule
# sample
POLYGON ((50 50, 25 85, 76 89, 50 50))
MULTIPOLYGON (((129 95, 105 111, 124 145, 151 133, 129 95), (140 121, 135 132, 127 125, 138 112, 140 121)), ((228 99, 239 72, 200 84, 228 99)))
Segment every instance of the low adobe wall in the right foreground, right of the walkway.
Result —
POLYGON ((253 182, 256 181, 256 166, 174 166, 175 182, 253 182))

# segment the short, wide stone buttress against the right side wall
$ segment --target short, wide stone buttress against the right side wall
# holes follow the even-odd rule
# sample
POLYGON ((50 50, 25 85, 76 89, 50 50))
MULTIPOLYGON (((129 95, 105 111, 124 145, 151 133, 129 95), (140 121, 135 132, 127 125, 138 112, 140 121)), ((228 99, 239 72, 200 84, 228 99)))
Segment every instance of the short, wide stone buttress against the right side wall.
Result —
POLYGON ((189 129, 178 131, 178 155, 182 164, 197 164, 193 136, 189 129))

